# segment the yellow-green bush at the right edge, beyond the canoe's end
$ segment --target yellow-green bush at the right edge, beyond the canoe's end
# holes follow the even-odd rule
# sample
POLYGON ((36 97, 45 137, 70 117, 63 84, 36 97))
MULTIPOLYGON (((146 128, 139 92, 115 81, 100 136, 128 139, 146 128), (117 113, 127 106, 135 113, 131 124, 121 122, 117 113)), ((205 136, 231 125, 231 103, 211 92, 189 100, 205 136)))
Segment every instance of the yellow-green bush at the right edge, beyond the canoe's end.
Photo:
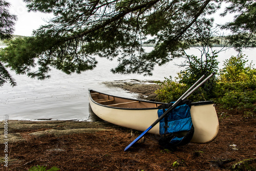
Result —
POLYGON ((217 84, 216 101, 224 108, 254 109, 256 103, 256 69, 244 55, 231 56, 224 62, 217 84))

